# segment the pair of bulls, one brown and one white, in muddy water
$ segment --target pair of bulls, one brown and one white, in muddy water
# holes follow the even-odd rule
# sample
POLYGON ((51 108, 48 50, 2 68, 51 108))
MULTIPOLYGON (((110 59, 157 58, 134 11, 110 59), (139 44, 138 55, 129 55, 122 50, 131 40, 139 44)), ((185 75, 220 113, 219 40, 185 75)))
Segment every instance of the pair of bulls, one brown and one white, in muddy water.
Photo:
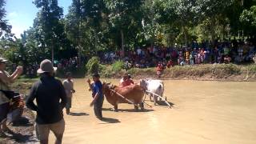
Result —
MULTIPOLYGON (((158 96, 163 95, 164 84, 161 80, 140 80, 139 85, 130 85, 126 87, 110 86, 110 83, 103 83, 103 93, 105 94, 107 102, 114 106, 114 110, 118 111, 119 103, 132 103, 134 109, 144 110, 143 98, 146 92, 150 92, 150 95, 154 97, 154 104, 158 100, 158 96), (157 96, 158 95, 158 96, 157 96)), ((151 100, 150 96, 150 100, 151 100)))

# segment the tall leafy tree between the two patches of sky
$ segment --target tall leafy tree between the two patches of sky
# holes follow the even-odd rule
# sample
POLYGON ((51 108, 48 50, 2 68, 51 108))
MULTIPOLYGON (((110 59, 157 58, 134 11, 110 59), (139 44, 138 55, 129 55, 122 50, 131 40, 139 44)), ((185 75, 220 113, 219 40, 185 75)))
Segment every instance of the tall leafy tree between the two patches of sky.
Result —
POLYGON ((54 61, 54 50, 68 49, 70 46, 62 22, 63 10, 58 6, 58 0, 35 0, 34 4, 39 9, 34 20, 34 27, 40 34, 39 45, 51 50, 54 61))

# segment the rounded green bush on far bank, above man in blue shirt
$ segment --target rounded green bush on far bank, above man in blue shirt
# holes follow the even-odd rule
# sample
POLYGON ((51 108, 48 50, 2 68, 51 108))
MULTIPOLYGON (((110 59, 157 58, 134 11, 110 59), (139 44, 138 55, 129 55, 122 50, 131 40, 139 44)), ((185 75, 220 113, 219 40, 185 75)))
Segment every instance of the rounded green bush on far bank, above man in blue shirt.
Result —
POLYGON ((88 74, 100 73, 101 64, 98 57, 90 58, 86 64, 86 70, 88 74))

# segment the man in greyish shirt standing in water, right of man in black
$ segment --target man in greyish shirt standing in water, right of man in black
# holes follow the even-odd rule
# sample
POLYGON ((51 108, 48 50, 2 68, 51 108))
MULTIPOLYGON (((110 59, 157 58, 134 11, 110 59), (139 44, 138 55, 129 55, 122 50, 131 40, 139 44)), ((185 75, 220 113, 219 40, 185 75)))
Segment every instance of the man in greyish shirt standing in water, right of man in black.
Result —
POLYGON ((66 79, 63 81, 63 86, 66 90, 66 114, 70 114, 70 108, 72 106, 72 97, 75 92, 74 82, 72 80, 72 74, 66 73, 66 79))

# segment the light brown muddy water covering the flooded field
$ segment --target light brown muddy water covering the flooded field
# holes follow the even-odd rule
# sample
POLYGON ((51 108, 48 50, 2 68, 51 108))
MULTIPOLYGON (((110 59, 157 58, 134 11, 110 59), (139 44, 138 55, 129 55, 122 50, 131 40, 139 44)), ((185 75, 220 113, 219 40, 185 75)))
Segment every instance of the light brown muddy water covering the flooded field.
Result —
MULTIPOLYGON (((105 100, 106 122, 94 117, 84 80, 75 79, 74 86, 74 114, 65 115, 66 144, 256 143, 256 82, 166 81, 165 95, 174 104, 172 109, 154 106, 134 112, 134 106, 122 104, 119 112, 113 112, 105 100)), ((50 143, 54 143, 52 134, 50 143)))

